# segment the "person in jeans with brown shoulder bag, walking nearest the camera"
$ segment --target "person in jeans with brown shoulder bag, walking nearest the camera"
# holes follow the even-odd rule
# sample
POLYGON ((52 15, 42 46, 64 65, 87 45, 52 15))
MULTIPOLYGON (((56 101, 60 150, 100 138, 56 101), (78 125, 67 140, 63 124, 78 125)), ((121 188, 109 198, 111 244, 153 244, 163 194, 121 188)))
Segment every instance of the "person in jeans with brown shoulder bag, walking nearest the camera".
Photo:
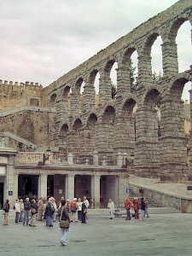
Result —
MULTIPOLYGON (((61 201, 61 207, 58 209, 58 216, 59 220, 68 220, 70 223, 70 218, 69 218, 69 212, 66 206, 66 201, 62 200, 61 201)), ((60 228, 61 230, 61 246, 67 246, 67 236, 69 233, 69 228, 60 228)))

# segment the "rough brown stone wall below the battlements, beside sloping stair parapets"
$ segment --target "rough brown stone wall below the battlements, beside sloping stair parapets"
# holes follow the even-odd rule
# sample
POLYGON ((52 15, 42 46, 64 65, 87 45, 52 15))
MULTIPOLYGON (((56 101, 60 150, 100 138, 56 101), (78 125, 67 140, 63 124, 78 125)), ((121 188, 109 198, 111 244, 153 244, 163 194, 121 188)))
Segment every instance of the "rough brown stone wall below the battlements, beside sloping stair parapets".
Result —
MULTIPOLYGON (((51 140, 51 128, 55 125, 55 113, 39 108, 37 111, 22 110, 10 113, 0 118, 0 134, 6 131, 21 137, 37 148, 48 148, 51 140)), ((9 134, 7 135, 9 137, 9 134)), ((10 148, 18 151, 33 151, 33 146, 21 141, 19 138, 9 137, 10 148)))

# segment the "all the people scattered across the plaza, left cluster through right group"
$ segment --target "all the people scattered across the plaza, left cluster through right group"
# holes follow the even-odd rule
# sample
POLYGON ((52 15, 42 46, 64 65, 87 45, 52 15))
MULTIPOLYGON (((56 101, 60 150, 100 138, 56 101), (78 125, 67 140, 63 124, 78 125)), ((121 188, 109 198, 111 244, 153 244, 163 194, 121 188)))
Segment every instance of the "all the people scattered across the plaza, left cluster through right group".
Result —
MULTIPOLYGON (((67 245, 67 236, 69 232, 69 226, 71 222, 77 223, 80 221, 82 224, 86 224, 87 219, 87 209, 90 203, 86 199, 86 196, 81 198, 73 198, 72 201, 65 201, 64 196, 61 197, 61 201, 57 204, 54 197, 49 197, 44 199, 40 197, 38 200, 29 197, 25 199, 19 198, 15 200, 15 224, 22 223, 23 225, 29 225, 36 227, 37 221, 44 221, 45 225, 49 228, 53 227, 53 223, 58 219, 59 223, 62 221, 68 222, 67 226, 61 226, 61 246, 67 245)), ((125 220, 131 219, 131 208, 133 208, 134 213, 132 217, 136 219, 141 219, 148 216, 148 201, 144 200, 142 197, 138 199, 134 198, 133 201, 130 198, 125 198, 125 209, 126 218, 125 220)), ((9 224, 9 200, 6 200, 3 206, 4 212, 4 225, 9 224)), ((114 217, 114 202, 112 199, 108 200, 108 210, 110 214, 110 219, 114 217)))

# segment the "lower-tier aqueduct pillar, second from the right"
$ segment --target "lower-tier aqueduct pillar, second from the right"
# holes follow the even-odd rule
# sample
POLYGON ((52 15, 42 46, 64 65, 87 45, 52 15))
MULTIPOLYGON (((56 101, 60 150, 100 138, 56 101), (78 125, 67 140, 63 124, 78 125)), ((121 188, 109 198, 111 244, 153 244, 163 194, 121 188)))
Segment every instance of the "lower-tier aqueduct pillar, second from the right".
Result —
POLYGON ((159 169, 157 110, 151 106, 137 108, 136 125, 134 171, 141 177, 156 177, 159 169))

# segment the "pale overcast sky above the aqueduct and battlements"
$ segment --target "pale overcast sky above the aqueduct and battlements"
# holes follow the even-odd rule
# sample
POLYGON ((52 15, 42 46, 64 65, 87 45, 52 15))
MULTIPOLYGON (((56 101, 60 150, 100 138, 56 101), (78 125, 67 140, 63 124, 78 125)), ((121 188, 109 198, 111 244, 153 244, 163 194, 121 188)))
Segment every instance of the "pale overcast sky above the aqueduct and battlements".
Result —
MULTIPOLYGON (((47 86, 176 2, 0 0, 0 79, 47 86)), ((183 69, 192 59, 190 31, 188 38, 188 47, 181 40, 181 50, 188 51, 183 69)))

